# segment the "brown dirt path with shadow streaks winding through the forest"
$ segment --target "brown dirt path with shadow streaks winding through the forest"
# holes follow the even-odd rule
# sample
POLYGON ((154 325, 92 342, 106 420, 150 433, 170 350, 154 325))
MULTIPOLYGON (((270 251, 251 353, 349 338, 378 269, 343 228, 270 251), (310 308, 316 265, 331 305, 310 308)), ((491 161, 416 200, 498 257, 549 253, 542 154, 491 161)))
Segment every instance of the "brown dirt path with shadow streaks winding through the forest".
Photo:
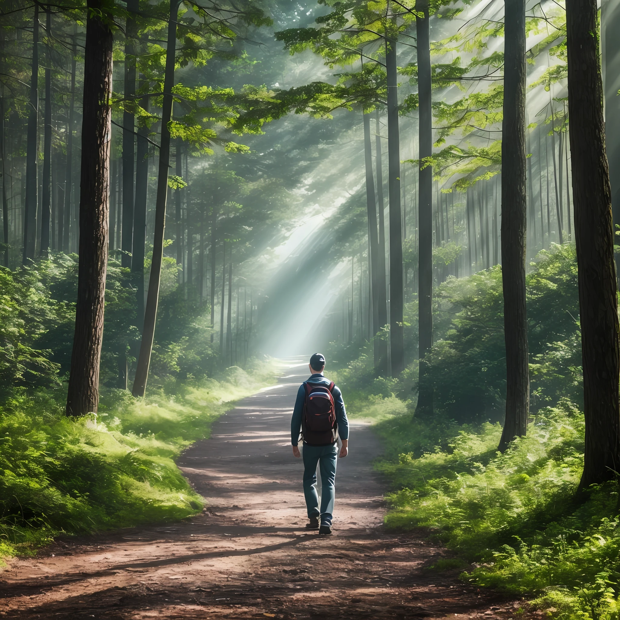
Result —
MULTIPOLYGON (((334 535, 306 531, 303 463, 290 414, 306 364, 219 418, 179 466, 207 500, 181 523, 61 539, 0 574, 2 618, 528 618, 522 601, 480 591, 449 552, 383 526, 381 446, 352 422, 339 459, 334 535)), ((346 399, 346 394, 345 394, 346 399)), ((534 614, 532 617, 536 617, 534 614)))

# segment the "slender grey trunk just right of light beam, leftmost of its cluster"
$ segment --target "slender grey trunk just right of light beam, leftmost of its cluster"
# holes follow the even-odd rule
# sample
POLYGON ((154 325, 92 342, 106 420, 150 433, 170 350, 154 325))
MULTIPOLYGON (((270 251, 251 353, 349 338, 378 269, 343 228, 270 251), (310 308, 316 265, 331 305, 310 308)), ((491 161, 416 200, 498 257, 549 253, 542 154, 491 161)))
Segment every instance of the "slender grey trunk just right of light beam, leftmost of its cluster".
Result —
MULTIPOLYGON (((372 335, 378 333, 379 325, 379 283, 378 283, 378 259, 379 239, 377 235, 377 207, 374 201, 374 178, 373 178, 373 153, 370 141, 370 115, 363 114, 364 120, 364 163, 366 167, 366 213, 368 214, 368 245, 370 248, 370 273, 371 273, 371 314, 372 335)), ((379 368, 379 342, 373 340, 374 368, 379 368)))

